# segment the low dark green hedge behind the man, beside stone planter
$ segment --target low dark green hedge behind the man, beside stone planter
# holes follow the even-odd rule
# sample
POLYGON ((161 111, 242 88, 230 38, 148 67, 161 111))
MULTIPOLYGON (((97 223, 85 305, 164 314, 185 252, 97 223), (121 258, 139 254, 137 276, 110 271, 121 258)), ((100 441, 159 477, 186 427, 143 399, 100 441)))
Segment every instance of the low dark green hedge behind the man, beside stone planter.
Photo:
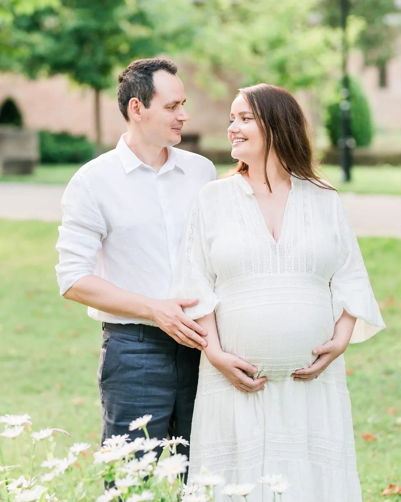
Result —
POLYGON ((42 164, 84 164, 93 159, 93 145, 85 136, 40 131, 42 164))

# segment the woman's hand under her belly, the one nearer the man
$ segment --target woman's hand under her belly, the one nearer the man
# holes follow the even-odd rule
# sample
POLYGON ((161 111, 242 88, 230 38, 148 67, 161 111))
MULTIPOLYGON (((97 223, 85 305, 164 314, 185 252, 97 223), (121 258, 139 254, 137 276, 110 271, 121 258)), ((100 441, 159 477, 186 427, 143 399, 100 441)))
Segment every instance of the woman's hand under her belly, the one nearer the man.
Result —
POLYGON ((250 378, 244 371, 256 373, 258 368, 236 355, 222 351, 213 358, 211 363, 223 373, 239 391, 258 392, 265 388, 264 386, 267 378, 265 376, 256 380, 250 378))

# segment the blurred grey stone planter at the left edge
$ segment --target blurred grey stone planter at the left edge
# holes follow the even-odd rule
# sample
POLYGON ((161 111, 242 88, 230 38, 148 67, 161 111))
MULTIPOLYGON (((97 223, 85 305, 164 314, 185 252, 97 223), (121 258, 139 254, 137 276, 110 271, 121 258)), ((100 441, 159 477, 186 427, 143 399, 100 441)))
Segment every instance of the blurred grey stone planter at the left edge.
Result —
POLYGON ((0 126, 0 174, 30 174, 38 160, 36 131, 0 126))

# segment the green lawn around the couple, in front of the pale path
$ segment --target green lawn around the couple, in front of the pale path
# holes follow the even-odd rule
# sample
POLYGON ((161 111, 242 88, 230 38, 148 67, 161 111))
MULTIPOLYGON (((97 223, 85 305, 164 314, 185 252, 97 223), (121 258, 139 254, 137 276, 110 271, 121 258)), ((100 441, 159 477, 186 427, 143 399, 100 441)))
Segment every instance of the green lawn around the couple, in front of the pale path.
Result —
MULTIPOLYGON (((7 236, 0 246, 0 415, 29 413, 35 430, 61 427, 72 434, 62 443, 96 446, 101 326, 87 317, 84 306, 59 296, 57 225, 0 220, 0 234, 7 236)), ((387 329, 348 348, 347 379, 363 500, 383 502, 382 489, 401 483, 401 240, 359 241, 387 329), (366 433, 376 441, 363 440, 366 433)), ((9 441, 11 461, 15 452, 9 441)))

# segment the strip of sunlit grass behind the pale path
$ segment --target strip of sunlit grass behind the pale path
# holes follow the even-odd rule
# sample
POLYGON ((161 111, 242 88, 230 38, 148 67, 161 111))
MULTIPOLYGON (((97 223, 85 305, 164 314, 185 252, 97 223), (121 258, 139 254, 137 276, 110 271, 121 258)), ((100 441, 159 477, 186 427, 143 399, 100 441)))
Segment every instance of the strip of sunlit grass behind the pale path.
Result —
MULTIPOLYGON (((25 176, 0 176, 0 182, 45 183, 66 185, 79 165, 39 166, 35 172, 25 176)), ((219 175, 229 169, 228 165, 218 165, 219 175)), ((352 181, 341 181, 338 166, 324 166, 323 174, 340 192, 384 193, 401 195, 401 167, 356 166, 352 171, 352 181)))

